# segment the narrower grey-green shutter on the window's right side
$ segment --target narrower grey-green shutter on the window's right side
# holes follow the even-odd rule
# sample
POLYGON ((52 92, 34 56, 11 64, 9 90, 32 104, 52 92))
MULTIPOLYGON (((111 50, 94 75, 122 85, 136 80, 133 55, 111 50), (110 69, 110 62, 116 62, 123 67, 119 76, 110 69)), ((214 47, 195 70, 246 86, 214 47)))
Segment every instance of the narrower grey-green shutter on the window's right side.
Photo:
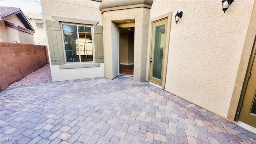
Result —
POLYGON ((95 62, 104 63, 103 26, 94 25, 93 29, 94 29, 95 62))

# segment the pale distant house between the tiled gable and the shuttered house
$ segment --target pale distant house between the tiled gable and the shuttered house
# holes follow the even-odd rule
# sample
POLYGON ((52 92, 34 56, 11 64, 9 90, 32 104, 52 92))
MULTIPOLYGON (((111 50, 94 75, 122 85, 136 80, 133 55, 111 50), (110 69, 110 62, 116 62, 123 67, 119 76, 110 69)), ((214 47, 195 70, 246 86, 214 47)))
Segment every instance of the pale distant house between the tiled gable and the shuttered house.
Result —
POLYGON ((34 41, 38 45, 47 45, 44 20, 42 14, 34 14, 31 12, 24 12, 24 15, 28 18, 28 21, 35 30, 34 41))

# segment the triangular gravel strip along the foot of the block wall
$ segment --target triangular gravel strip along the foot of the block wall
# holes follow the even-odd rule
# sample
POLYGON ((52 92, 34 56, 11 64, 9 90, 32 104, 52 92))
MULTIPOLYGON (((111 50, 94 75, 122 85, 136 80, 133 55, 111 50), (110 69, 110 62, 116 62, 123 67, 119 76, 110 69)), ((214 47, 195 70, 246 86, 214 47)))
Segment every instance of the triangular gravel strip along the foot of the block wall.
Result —
POLYGON ((52 76, 51 76, 50 64, 46 64, 42 68, 25 76, 20 81, 10 84, 9 88, 15 87, 15 86, 28 86, 31 84, 40 84, 40 83, 49 83, 49 82, 52 82, 52 76))

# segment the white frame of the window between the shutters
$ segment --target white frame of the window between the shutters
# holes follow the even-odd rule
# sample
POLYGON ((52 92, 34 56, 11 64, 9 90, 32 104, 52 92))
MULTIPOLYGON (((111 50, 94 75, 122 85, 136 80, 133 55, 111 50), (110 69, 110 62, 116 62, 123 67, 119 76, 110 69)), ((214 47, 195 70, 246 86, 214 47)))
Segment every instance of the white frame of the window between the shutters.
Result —
POLYGON ((61 39, 62 39, 62 47, 63 47, 63 53, 64 53, 64 61, 65 64, 78 64, 78 63, 95 63, 95 47, 94 47, 94 29, 93 29, 93 25, 88 25, 88 24, 74 24, 74 23, 69 23, 69 22, 60 22, 60 34, 61 39), (80 62, 67 62, 67 58, 66 58, 66 48, 65 48, 65 40, 64 40, 64 32, 63 32, 63 25, 70 25, 70 26, 77 26, 76 28, 78 28, 78 26, 86 26, 86 27, 90 27, 91 28, 91 34, 92 34, 92 61, 90 62, 81 62, 81 57, 80 57, 80 50, 79 50, 79 61, 80 62))

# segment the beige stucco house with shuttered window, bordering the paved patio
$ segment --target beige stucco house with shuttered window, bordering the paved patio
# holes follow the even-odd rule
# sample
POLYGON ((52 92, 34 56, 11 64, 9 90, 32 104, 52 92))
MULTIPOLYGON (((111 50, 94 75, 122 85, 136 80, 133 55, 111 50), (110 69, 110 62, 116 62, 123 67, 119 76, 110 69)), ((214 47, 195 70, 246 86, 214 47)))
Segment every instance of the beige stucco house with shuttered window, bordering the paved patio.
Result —
POLYGON ((221 0, 41 4, 53 81, 114 79, 130 66, 135 82, 256 127, 255 0, 236 0, 225 13, 221 0))

